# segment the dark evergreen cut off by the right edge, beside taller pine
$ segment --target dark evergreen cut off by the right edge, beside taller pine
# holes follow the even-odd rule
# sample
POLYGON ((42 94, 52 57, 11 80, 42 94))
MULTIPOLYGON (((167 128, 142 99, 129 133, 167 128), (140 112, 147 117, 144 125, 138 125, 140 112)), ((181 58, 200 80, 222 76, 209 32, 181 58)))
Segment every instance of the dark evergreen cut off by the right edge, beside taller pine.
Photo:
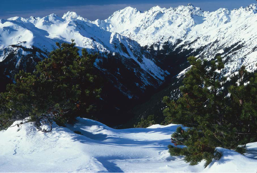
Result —
POLYGON ((229 87, 232 114, 236 120, 238 138, 241 141, 257 141, 257 73, 247 72, 242 66, 231 77, 229 87))

